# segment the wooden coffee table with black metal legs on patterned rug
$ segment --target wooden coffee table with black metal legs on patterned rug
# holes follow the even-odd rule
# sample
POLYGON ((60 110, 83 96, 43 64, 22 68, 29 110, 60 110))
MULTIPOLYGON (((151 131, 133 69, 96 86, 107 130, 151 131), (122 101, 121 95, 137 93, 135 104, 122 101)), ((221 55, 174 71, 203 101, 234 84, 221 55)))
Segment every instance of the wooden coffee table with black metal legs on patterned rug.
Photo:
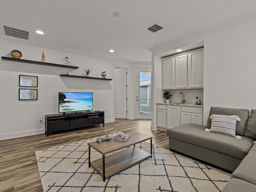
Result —
POLYGON ((117 174, 118 172, 125 170, 143 160, 152 157, 152 136, 141 134, 138 132, 126 132, 130 134, 130 138, 126 142, 114 141, 115 137, 112 137, 110 141, 104 141, 98 143, 97 141, 88 143, 89 146, 89 167, 92 165, 105 179, 117 174), (150 140, 150 153, 140 150, 135 147, 135 144, 150 140), (130 147, 129 146, 134 146, 130 147), (90 161, 90 148, 94 148, 100 154, 102 158, 90 161), (124 149, 126 148, 126 149, 124 149), (120 152, 116 152, 120 149, 120 152), (116 152, 114 154, 109 154, 116 152), (106 154, 109 154, 105 156, 106 154))

